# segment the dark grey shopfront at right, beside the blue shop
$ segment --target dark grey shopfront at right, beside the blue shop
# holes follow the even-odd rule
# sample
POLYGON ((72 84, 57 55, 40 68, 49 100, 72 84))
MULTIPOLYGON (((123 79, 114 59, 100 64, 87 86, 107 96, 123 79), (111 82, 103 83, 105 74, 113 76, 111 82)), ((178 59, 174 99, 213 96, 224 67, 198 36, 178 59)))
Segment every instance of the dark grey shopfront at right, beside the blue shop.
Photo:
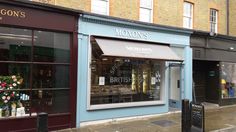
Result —
POLYGON ((236 38, 195 32, 191 47, 196 101, 236 104, 236 38))

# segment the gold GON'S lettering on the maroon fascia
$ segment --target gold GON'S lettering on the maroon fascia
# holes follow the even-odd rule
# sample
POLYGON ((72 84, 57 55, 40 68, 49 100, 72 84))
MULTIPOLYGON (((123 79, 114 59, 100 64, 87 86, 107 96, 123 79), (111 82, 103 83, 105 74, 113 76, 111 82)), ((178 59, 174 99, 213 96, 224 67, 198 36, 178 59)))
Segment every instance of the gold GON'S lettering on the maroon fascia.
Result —
POLYGON ((0 17, 3 16, 9 16, 9 17, 16 17, 16 18, 25 18, 26 13, 20 10, 10 10, 10 9, 4 9, 0 8, 0 17))

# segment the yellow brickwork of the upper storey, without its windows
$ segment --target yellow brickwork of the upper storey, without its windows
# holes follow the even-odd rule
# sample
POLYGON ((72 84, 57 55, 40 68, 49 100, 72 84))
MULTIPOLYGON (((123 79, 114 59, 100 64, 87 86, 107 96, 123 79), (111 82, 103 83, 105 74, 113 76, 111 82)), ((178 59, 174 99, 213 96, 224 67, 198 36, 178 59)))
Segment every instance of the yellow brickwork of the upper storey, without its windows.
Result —
MULTIPOLYGON (((91 0, 35 0, 91 11, 91 0)), ((226 0, 153 0, 153 23, 183 27, 183 2, 194 4, 193 28, 210 31, 210 8, 218 10, 218 33, 226 34, 226 0)), ((236 0, 230 0, 231 20, 236 20, 236 0)), ((110 16, 139 20, 139 0, 110 0, 110 16)), ((231 21, 230 34, 236 35, 236 23, 231 21)))

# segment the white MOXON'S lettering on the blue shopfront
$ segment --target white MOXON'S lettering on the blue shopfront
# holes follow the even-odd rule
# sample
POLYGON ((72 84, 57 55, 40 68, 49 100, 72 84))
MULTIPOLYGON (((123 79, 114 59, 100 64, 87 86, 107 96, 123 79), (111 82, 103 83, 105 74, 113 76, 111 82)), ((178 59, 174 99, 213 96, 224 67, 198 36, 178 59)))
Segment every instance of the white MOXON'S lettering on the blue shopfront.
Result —
POLYGON ((133 39, 148 39, 148 33, 142 31, 135 31, 135 30, 128 30, 128 29, 115 29, 116 36, 123 37, 123 38, 133 38, 133 39))

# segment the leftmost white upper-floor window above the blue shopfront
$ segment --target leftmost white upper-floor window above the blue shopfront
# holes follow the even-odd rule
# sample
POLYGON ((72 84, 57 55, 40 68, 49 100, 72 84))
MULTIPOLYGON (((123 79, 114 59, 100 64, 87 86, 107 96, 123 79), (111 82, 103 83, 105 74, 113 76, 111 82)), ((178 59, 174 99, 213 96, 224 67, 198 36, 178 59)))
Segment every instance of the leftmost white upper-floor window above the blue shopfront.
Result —
POLYGON ((91 12, 109 15, 109 0, 92 0, 91 12))

